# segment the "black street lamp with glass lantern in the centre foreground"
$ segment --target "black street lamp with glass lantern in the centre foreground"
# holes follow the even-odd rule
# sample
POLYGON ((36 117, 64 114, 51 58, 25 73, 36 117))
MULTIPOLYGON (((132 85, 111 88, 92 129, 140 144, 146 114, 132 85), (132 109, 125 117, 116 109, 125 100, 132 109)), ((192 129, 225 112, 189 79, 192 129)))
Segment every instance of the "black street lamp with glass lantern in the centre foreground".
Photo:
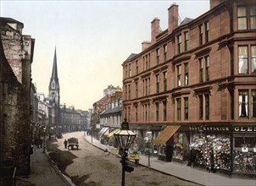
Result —
POLYGON ((121 123, 120 131, 114 134, 114 139, 119 147, 119 154, 122 157, 122 186, 125 186, 125 171, 132 172, 134 170, 133 167, 126 165, 125 159, 135 137, 136 134, 129 129, 129 123, 126 122, 126 119, 125 122, 121 123))

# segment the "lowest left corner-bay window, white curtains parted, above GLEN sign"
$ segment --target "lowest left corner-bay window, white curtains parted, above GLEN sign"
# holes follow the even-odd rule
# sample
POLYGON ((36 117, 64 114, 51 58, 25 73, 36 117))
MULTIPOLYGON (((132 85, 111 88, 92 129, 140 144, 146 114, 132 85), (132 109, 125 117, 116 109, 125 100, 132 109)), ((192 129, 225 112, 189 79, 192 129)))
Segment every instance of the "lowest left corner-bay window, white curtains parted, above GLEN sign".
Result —
POLYGON ((239 118, 248 118, 248 91, 239 91, 239 118))

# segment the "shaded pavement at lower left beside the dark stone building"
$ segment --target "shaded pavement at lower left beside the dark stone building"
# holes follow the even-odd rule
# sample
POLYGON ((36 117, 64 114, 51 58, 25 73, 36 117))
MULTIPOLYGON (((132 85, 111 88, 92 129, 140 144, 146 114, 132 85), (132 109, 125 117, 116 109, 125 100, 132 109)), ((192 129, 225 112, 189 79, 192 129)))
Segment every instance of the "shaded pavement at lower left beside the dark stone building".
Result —
POLYGON ((31 155, 31 175, 28 177, 16 178, 17 186, 70 186, 69 178, 65 177, 53 161, 42 152, 42 148, 34 147, 34 153, 31 155))

